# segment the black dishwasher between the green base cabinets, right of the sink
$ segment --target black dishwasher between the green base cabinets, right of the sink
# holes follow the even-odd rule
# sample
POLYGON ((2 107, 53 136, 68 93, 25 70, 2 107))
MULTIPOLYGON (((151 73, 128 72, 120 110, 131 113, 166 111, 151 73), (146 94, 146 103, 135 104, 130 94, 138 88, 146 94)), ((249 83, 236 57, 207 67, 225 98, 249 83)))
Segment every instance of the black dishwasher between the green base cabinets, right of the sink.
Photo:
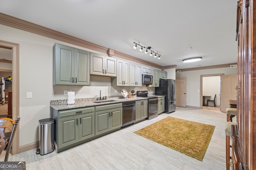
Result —
POLYGON ((135 122, 136 116, 136 102, 123 102, 123 126, 126 127, 135 122))

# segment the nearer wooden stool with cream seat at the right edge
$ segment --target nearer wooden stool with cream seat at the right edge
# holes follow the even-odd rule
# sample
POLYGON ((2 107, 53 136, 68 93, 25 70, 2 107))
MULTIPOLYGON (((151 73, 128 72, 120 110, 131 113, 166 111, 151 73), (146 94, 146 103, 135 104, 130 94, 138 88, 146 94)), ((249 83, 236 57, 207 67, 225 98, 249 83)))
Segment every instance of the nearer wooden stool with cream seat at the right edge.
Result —
POLYGON ((232 159, 232 157, 230 156, 230 148, 232 148, 232 145, 230 145, 231 125, 236 125, 236 122, 227 121, 226 124, 225 124, 225 135, 226 135, 226 169, 227 170, 229 170, 229 168, 230 168, 230 159, 232 159))

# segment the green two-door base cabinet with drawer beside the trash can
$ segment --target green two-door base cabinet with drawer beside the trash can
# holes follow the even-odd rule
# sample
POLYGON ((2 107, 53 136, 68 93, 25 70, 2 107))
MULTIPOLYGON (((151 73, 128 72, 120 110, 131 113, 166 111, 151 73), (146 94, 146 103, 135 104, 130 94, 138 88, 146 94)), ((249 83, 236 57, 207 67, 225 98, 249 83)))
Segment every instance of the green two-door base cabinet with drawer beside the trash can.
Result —
POLYGON ((54 111, 55 142, 58 149, 95 136, 95 108, 54 111))

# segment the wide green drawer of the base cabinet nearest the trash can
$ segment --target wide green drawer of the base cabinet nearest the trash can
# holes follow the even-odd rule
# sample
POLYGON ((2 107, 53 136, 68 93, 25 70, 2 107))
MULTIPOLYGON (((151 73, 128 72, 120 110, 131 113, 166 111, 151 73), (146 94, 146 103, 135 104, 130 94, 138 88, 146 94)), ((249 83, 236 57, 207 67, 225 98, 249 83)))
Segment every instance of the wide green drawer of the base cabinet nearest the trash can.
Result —
POLYGON ((80 109, 71 109, 71 110, 62 110, 58 112, 58 118, 72 116, 72 115, 79 115, 83 113, 91 113, 94 112, 94 107, 85 107, 80 109))

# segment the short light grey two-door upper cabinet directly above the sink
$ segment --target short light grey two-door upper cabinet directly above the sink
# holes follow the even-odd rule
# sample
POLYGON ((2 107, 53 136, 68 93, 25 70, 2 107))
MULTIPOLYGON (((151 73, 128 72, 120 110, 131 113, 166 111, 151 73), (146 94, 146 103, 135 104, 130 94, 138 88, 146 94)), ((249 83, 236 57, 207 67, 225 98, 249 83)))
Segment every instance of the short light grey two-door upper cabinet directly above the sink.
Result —
POLYGON ((116 77, 116 59, 96 53, 91 53, 90 74, 116 77))

